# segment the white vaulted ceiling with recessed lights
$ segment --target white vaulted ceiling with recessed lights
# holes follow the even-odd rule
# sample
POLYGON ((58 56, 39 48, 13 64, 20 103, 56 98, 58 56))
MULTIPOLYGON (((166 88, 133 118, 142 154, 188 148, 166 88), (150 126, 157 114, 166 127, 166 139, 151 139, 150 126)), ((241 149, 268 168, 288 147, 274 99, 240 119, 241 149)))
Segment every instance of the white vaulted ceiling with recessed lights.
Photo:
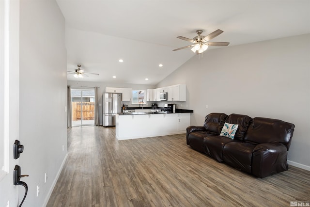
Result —
MULTIPOLYGON (((172 49, 190 45, 176 37, 193 38, 198 29, 204 36, 223 30, 211 41, 230 42, 228 47, 310 33, 310 0, 57 2, 66 21, 67 69, 81 64, 86 72, 100 74, 68 75, 68 80, 155 85, 196 55, 190 48, 172 49)), ((215 48, 221 47, 208 50, 215 48)))

